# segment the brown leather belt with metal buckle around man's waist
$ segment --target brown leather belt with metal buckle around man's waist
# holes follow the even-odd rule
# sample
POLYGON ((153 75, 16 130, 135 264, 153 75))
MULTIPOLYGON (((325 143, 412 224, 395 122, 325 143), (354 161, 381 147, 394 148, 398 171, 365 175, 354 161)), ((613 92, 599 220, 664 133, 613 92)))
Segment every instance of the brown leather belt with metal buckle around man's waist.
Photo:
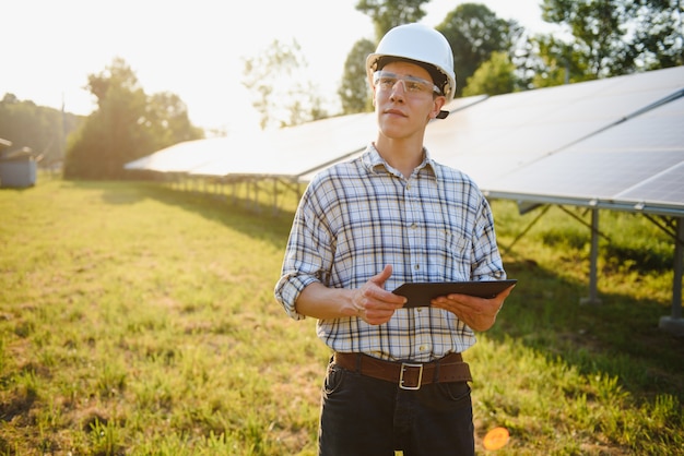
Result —
POLYGON ((333 362, 347 371, 385 380, 402 389, 420 389, 421 385, 443 382, 472 382, 470 367, 463 362, 461 353, 451 353, 424 364, 413 362, 391 362, 363 353, 335 351, 333 362))

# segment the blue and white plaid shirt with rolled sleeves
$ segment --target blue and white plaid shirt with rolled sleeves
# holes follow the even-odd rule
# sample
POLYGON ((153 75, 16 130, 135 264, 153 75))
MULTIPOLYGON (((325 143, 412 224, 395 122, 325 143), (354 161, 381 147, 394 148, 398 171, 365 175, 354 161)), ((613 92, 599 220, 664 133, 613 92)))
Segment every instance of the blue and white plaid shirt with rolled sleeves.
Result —
MULTIPOLYGON (((406 180, 373 145, 317 175, 297 208, 275 298, 302 320, 295 302, 319 281, 358 288, 393 267, 386 288, 403 283, 506 277, 490 205, 462 172, 425 159, 406 180)), ((455 314, 429 307, 399 309, 382 325, 357 316, 319 320, 317 333, 337 351, 428 362, 475 343, 455 314)))

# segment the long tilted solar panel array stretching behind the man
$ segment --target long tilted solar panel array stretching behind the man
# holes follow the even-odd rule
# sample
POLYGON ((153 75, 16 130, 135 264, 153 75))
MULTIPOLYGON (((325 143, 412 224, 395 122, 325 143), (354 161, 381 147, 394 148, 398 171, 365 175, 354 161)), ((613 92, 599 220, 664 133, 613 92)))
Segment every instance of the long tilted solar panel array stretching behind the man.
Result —
MULTIPOLYGON (((458 98, 432 156, 492 197, 684 216, 684 67, 458 98)), ((376 136, 374 113, 177 144, 128 169, 307 180, 376 136)))

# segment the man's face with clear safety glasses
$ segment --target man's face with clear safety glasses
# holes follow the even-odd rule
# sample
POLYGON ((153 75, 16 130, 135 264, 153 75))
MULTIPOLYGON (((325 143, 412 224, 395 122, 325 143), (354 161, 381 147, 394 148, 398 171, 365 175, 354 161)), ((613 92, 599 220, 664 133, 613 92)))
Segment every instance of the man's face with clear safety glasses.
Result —
POLYGON ((446 103, 433 91, 429 73, 404 61, 386 64, 374 77, 374 105, 382 134, 402 139, 423 134, 446 103))

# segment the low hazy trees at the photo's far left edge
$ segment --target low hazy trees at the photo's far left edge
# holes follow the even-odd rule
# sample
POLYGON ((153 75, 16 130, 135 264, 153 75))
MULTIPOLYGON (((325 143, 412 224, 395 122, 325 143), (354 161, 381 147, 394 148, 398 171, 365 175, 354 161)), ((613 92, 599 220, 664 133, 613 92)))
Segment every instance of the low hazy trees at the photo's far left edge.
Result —
POLYGON ((0 137, 11 141, 13 148, 31 148, 42 158, 42 166, 59 166, 67 136, 82 121, 73 113, 22 101, 13 94, 4 94, 0 101, 0 137))

